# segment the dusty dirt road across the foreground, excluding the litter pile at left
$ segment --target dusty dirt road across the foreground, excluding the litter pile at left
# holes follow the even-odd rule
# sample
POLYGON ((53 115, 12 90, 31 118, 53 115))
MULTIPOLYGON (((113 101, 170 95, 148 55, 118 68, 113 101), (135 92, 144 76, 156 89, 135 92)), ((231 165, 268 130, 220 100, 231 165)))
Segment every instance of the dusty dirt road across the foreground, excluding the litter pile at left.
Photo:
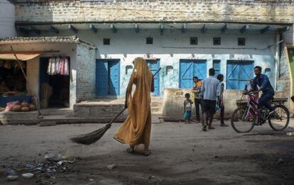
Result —
MULTIPOLYGON (((69 138, 102 125, 0 125, 0 184, 294 184, 294 137, 273 132, 268 124, 249 134, 217 121, 207 132, 200 124, 153 124, 149 157, 126 153, 127 146, 112 139, 119 125, 89 146, 69 138), (68 164, 68 172, 6 181, 7 169, 43 161, 46 152, 78 161, 68 164)), ((293 128, 291 120, 288 130, 293 128)))

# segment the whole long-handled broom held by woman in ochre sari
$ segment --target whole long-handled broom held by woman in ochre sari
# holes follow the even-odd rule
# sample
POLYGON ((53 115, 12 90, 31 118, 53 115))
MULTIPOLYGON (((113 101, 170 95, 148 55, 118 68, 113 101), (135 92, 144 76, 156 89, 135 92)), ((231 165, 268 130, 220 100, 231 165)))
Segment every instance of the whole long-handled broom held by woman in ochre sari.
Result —
MULTIPOLYGON (((153 74, 153 77, 155 77, 155 75, 160 71, 160 69, 161 69, 161 67, 157 70, 157 72, 155 74, 153 74)), ((83 145, 91 145, 92 143, 97 142, 97 140, 102 138, 104 133, 106 133, 106 131, 111 127, 111 124, 114 123, 114 120, 116 120, 116 118, 118 118, 121 115, 121 113, 124 112, 124 110, 126 110, 126 108, 121 110, 115 116, 115 118, 113 118, 109 123, 104 125, 104 127, 99 128, 98 130, 95 130, 92 133, 78 135, 78 136, 76 136, 74 138, 70 138, 70 140, 72 140, 72 142, 76 142, 76 143, 83 144, 83 145)))

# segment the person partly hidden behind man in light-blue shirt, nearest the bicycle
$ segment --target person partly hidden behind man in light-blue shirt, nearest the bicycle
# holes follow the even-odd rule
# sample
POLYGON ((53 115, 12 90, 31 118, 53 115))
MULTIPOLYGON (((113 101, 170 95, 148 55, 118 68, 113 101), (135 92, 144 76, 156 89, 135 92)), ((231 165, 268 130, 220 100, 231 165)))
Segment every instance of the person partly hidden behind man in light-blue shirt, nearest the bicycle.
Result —
POLYGON ((217 105, 220 108, 220 125, 222 127, 227 127, 228 125, 224 123, 224 75, 218 74, 217 79, 219 80, 219 85, 217 86, 217 105))

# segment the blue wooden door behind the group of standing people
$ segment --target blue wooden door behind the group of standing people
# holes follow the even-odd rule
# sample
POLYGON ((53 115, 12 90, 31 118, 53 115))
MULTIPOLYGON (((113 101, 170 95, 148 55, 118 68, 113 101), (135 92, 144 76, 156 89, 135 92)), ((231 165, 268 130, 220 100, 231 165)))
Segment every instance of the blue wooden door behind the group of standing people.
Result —
POLYGON ((207 74, 206 60, 180 60, 180 88, 193 87, 193 77, 205 79, 207 74))

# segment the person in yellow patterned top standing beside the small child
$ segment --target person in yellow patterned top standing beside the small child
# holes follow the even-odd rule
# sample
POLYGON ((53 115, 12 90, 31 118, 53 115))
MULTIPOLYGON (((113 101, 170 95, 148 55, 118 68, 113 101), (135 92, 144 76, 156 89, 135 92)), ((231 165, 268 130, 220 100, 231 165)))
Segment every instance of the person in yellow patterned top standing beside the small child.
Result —
POLYGON ((198 77, 193 77, 193 82, 195 86, 193 86, 194 92, 194 100, 195 100, 195 112, 196 112, 196 123, 200 122, 200 107, 202 111, 202 97, 201 97, 201 86, 202 82, 198 77))

